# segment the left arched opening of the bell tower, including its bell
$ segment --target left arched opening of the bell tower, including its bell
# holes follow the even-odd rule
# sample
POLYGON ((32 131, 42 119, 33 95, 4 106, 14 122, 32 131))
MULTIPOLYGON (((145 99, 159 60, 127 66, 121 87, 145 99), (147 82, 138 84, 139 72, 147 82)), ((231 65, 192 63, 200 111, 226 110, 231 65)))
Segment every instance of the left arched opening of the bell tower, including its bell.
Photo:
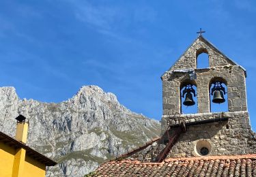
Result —
POLYGON ((197 85, 194 80, 180 84, 180 113, 197 113, 197 85))

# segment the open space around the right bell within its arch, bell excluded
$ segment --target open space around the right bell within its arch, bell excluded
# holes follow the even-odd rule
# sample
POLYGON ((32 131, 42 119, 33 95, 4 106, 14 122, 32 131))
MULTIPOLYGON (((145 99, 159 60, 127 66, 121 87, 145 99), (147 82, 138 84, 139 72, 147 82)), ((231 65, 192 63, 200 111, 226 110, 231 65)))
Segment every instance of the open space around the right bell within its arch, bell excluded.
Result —
POLYGON ((209 103, 210 103, 210 112, 228 112, 229 106, 228 106, 228 83, 227 80, 221 77, 214 77, 209 82, 209 103), (225 102, 223 103, 213 103, 213 95, 212 95, 212 88, 214 86, 214 83, 220 82, 223 88, 225 89, 225 93, 223 92, 223 97, 225 99, 225 102))

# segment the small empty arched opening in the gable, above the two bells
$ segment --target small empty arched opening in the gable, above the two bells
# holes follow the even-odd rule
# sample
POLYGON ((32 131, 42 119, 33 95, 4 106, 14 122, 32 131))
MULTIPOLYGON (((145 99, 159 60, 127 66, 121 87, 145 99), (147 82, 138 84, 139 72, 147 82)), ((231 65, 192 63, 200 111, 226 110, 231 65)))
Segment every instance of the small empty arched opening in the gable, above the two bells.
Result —
POLYGON ((197 69, 209 67, 209 55, 205 48, 200 48, 196 52, 197 69))

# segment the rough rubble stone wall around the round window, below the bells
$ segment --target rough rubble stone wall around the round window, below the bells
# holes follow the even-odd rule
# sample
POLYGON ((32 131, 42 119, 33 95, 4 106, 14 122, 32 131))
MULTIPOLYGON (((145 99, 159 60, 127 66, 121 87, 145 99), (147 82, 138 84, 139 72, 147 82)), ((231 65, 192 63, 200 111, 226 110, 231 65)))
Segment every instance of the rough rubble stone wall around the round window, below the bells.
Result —
MULTIPOLYGON (((225 112, 208 114, 186 114, 178 120, 177 116, 166 116, 163 122, 175 125, 180 120, 186 123, 212 118, 229 118, 228 121, 218 121, 203 125, 186 127, 186 133, 180 135, 168 157, 197 157, 195 146, 200 140, 210 143, 209 155, 242 155, 255 153, 256 135, 251 131, 248 112, 225 112)), ((170 133, 175 131, 171 129, 170 133)), ((167 158, 168 158, 167 157, 167 158)))

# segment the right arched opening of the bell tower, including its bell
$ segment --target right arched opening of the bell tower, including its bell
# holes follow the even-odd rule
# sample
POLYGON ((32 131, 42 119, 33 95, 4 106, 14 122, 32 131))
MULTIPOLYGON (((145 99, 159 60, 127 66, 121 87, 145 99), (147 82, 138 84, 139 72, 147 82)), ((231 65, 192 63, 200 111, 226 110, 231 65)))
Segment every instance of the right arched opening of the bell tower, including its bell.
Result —
POLYGON ((223 78, 213 78, 209 84, 210 111, 228 112, 227 81, 223 78))

